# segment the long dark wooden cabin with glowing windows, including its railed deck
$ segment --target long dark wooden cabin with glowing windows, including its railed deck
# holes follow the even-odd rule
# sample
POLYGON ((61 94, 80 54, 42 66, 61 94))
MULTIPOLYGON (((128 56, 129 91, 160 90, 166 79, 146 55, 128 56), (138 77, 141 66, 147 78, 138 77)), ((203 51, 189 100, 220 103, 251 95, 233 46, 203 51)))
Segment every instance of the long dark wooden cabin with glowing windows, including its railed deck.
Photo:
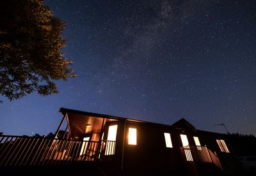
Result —
POLYGON ((185 119, 166 125, 67 108, 60 112, 55 138, 0 136, 0 166, 90 170, 85 164, 94 163, 102 175, 243 173, 227 135, 195 129, 185 119))

